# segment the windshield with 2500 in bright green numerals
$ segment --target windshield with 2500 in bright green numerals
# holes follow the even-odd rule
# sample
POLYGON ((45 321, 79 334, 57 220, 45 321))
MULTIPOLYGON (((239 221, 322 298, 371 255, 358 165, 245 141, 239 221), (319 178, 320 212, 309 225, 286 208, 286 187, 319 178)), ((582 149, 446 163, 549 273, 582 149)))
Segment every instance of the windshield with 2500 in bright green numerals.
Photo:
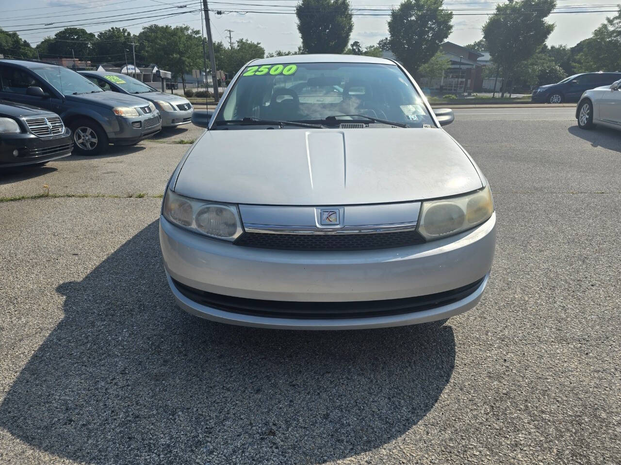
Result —
MULTIPOLYGON (((433 125, 424 102, 399 67, 376 63, 291 63, 248 66, 215 123, 243 118, 306 123, 369 123, 366 117, 409 128, 433 125), (350 115, 340 117, 340 115, 350 115)), ((296 127, 296 126, 287 126, 296 127)))

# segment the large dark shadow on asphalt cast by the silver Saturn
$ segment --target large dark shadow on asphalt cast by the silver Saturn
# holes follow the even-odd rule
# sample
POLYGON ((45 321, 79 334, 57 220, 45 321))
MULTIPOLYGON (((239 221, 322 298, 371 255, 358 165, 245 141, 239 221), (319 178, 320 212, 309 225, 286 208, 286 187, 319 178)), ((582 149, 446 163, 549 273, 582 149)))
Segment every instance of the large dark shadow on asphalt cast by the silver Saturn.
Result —
POLYGON ((90 464, 317 463, 406 433, 450 379, 450 326, 294 332, 176 308, 154 222, 82 281, 0 427, 90 464))

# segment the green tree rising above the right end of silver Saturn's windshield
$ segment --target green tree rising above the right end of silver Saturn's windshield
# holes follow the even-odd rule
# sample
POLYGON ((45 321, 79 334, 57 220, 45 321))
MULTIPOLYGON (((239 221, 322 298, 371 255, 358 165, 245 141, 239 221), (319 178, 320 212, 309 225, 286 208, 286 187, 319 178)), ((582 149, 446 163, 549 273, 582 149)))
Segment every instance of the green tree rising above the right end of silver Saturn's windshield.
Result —
POLYGON ((453 30, 442 0, 404 0, 388 20, 390 50, 415 77, 453 30))

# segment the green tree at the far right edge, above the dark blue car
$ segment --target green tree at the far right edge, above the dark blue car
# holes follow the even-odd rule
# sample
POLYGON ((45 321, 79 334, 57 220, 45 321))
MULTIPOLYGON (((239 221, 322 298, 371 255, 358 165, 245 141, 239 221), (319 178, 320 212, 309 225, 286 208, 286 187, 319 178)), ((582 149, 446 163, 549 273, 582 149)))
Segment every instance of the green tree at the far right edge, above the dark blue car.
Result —
POLYGON ((590 38, 578 45, 582 50, 574 58, 577 72, 621 69, 621 6, 615 16, 607 17, 590 38))

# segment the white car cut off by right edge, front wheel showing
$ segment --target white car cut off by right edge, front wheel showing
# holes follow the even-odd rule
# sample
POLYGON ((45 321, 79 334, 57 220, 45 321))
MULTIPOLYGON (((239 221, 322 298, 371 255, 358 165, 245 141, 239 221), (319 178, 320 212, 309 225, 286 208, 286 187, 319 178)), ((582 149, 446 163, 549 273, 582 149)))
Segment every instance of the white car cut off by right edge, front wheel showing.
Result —
POLYGON ((576 119, 582 129, 594 125, 621 129, 621 80, 610 86, 584 92, 576 107, 576 119))

